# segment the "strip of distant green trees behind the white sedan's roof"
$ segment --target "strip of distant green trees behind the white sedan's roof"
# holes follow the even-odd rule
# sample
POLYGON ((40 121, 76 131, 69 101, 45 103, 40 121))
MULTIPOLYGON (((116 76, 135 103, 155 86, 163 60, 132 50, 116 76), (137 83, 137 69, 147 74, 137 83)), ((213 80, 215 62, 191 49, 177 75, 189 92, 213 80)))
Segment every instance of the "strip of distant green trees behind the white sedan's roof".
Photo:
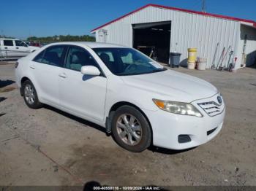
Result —
POLYGON ((30 36, 28 41, 34 42, 95 42, 94 36, 83 35, 83 36, 72 36, 72 35, 55 35, 55 36, 47 36, 47 37, 37 37, 37 36, 30 36))

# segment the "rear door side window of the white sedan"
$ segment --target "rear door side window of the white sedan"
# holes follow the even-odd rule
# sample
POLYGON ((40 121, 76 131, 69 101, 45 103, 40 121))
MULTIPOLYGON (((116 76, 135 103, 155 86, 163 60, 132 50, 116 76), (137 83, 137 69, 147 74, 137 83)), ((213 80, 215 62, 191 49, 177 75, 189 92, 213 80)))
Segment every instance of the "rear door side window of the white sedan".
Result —
POLYGON ((45 54, 42 58, 42 63, 63 67, 65 49, 66 49, 66 46, 48 47, 45 50, 45 54))

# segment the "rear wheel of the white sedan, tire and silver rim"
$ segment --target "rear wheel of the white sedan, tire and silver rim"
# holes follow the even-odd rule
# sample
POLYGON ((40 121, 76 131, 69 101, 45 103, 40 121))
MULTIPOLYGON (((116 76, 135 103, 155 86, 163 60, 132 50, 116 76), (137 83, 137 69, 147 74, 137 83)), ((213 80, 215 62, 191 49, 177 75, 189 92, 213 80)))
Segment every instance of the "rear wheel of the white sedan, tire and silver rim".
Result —
POLYGON ((42 104, 38 100, 37 90, 30 80, 26 80, 22 85, 22 95, 27 106, 31 109, 39 109, 42 104))

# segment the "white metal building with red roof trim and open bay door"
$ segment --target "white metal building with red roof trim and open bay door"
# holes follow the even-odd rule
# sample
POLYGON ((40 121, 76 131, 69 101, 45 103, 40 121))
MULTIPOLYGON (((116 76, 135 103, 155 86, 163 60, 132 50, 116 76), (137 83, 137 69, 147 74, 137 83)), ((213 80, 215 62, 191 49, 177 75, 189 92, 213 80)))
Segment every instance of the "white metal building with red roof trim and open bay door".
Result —
POLYGON ((188 9, 147 4, 91 33, 95 34, 97 42, 123 44, 146 54, 154 47, 157 60, 163 63, 168 62, 170 52, 181 52, 181 64, 187 64, 190 47, 197 47, 198 56, 207 58, 208 68, 214 55, 217 64, 224 47, 225 52, 234 52, 236 69, 244 63, 250 66, 256 60, 255 21, 188 9))

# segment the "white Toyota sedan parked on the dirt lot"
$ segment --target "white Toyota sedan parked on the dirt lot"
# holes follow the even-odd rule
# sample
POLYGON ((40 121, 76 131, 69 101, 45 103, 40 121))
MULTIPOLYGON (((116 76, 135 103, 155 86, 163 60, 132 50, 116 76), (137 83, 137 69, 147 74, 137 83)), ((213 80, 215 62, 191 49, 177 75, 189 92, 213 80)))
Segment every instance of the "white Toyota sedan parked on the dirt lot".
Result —
POLYGON ((225 103, 210 83, 116 44, 49 44, 16 63, 27 106, 48 104, 101 125, 132 152, 188 149, 222 129, 225 103))

